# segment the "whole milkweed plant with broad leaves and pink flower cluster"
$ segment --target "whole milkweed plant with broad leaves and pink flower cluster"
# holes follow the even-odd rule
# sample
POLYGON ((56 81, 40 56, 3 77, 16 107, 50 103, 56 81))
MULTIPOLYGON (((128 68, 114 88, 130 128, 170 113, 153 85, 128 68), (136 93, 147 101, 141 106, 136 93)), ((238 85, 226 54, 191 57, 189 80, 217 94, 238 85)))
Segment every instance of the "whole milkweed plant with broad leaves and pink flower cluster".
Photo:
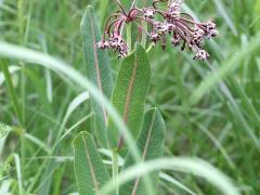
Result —
POLYGON ((182 12, 181 0, 156 0, 146 8, 139 8, 135 0, 130 9, 120 0, 117 4, 119 10, 108 16, 103 32, 94 10, 88 6, 81 21, 82 46, 88 78, 110 100, 129 131, 122 131, 106 106, 90 96, 95 131, 80 132, 74 140, 77 186, 81 195, 159 194, 159 169, 145 176, 142 169, 123 174, 136 161, 157 159, 164 153, 164 119, 157 108, 145 109, 151 84, 147 51, 156 46, 162 50, 180 47, 191 50, 194 60, 206 61, 209 53, 203 44, 218 36, 218 30, 213 20, 200 23, 182 12), (135 38, 132 30, 138 31, 135 38), (107 50, 122 58, 115 81, 107 50))

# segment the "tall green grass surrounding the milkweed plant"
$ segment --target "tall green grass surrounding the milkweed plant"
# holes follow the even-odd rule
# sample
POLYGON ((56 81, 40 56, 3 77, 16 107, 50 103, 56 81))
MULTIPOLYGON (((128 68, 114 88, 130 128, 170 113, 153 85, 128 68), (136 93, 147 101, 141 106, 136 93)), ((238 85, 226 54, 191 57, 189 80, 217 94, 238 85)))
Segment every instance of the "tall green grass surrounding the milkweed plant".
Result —
MULTIPOLYGON (((105 102, 128 133, 86 78, 79 25, 89 3, 102 27, 114 2, 0 1, 0 122, 10 126, 0 136, 0 194, 77 192, 72 142, 94 127, 86 90, 105 102)), ((136 165, 118 181, 160 165, 170 177, 160 180, 160 194, 259 194, 260 1, 195 0, 185 9, 202 21, 217 18, 220 36, 207 44, 211 58, 196 62, 171 48, 150 51, 146 107, 158 107, 166 121, 165 158, 136 165)), ((116 76, 120 62, 110 56, 116 76)), ((131 138, 128 143, 138 160, 131 138)), ((102 156, 109 168, 110 157, 102 156)))

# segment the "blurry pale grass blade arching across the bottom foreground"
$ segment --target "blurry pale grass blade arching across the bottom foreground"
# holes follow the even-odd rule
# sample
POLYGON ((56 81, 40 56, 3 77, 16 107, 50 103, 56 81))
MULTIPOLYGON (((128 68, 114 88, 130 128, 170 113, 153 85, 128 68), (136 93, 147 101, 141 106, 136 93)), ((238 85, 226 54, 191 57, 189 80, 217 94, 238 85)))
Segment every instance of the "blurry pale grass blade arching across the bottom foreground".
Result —
POLYGON ((159 169, 169 169, 202 177, 224 195, 240 194, 237 187, 233 185, 230 178, 220 172, 213 166, 202 159, 187 157, 159 158, 138 164, 121 172, 114 181, 108 182, 102 188, 101 194, 105 195, 112 192, 116 187, 116 183, 123 184, 134 179, 136 174, 146 174, 159 169))

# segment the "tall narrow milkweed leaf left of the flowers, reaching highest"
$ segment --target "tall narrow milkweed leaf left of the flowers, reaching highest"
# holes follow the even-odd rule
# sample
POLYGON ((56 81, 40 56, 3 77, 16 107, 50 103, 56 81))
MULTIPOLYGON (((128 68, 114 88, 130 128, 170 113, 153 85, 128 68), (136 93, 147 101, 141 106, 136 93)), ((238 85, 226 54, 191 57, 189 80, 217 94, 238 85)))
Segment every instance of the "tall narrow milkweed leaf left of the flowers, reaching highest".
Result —
MULTIPOLYGON (((96 49, 95 44, 102 39, 100 29, 96 25, 94 11, 91 6, 81 21, 81 34, 83 42, 83 56, 88 78, 99 88, 107 99, 110 99, 113 90, 113 76, 108 55, 106 51, 96 49)), ((106 125, 107 113, 104 105, 100 105, 93 96, 90 99, 92 109, 95 114, 96 136, 101 144, 106 147, 106 125)))

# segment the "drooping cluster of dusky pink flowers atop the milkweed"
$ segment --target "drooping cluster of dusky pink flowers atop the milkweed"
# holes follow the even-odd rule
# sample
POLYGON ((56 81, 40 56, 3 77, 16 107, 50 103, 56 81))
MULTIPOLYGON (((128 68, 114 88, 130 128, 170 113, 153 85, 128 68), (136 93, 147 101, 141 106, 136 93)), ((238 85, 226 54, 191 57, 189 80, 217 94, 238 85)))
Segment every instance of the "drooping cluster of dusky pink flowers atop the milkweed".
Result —
POLYGON ((133 23, 150 37, 154 46, 160 43, 162 50, 166 49, 167 38, 170 37, 173 47, 182 44, 182 50, 187 47, 195 52, 194 58, 205 61, 209 57, 208 52, 203 49, 203 43, 206 39, 218 36, 216 24, 212 20, 195 22, 190 14, 181 12, 181 0, 169 0, 165 10, 157 8, 158 3, 166 3, 162 0, 154 1, 152 6, 143 9, 134 6, 133 3, 128 13, 120 1, 117 1, 121 10, 106 21, 103 39, 96 44, 98 48, 114 50, 119 53, 119 57, 127 56, 129 47, 122 38, 122 32, 126 24, 133 23), (151 26, 150 32, 144 29, 144 23, 151 26))

